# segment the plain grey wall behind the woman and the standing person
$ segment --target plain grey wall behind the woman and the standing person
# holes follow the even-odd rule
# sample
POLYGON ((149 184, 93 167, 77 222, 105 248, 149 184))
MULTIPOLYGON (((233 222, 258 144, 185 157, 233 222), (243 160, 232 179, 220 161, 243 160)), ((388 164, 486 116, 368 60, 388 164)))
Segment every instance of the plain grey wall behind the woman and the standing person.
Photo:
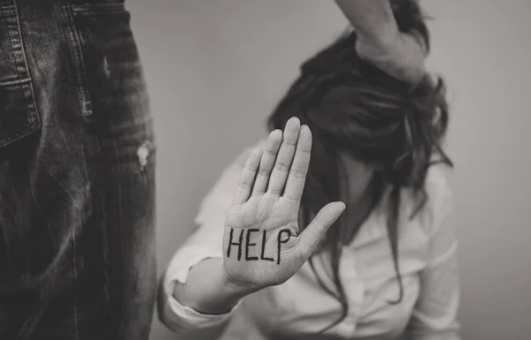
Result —
MULTIPOLYGON (((220 171, 265 135, 332 0, 127 0, 158 132, 158 269, 220 171)), ((464 339, 531 339, 531 2, 422 0, 448 81, 464 339)), ((152 340, 178 338, 154 321, 152 340)), ((196 339, 199 340, 199 339, 196 339)))

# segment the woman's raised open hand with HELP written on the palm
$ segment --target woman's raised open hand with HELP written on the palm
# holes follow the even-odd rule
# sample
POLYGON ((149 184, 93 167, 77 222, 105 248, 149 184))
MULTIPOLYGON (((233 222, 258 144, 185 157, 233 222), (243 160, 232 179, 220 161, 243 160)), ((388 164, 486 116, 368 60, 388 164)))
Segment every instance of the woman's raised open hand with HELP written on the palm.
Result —
POLYGON ((283 133, 271 132, 264 149, 250 154, 225 222, 223 269, 230 282, 261 289, 287 281, 342 214, 342 202, 330 203, 299 232, 311 150, 310 129, 291 118, 283 133))

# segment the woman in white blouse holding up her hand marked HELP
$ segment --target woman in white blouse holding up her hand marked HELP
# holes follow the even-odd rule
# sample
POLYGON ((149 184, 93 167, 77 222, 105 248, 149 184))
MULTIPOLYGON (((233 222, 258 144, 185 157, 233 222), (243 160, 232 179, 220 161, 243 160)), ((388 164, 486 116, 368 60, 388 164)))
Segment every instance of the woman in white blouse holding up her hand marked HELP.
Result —
MULTIPOLYGON (((419 7, 402 3, 398 27, 428 49, 419 7)), ((170 329, 230 319, 223 339, 460 339, 443 82, 407 87, 357 39, 303 64, 268 139, 204 199, 165 273, 170 329)))

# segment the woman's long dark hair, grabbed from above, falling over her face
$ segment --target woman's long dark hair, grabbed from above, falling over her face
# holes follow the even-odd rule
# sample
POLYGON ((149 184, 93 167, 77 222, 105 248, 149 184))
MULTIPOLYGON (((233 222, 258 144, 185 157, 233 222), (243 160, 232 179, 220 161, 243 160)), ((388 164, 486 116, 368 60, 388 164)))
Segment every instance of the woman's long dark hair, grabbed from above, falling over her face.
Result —
MULTIPOLYGON (((391 4, 400 31, 415 34, 429 50, 429 33, 416 1, 392 0, 391 4)), ((449 120, 443 79, 426 76, 414 88, 394 79, 358 57, 356 33, 350 32, 302 65, 301 75, 269 117, 269 128, 282 129, 290 117, 298 117, 313 135, 312 162, 301 202, 301 228, 327 203, 349 201, 339 181, 344 175, 338 156, 341 150, 376 169, 372 190, 377 198, 389 189, 385 200, 387 229, 400 285, 398 298, 389 303, 400 303, 404 294, 397 259, 400 191, 412 188, 419 211, 427 200, 424 183, 432 156, 438 154, 440 162, 452 166, 441 147, 449 120)), ((345 231, 355 228, 356 233, 361 223, 347 223, 343 214, 321 245, 321 250, 331 254, 336 291, 327 289, 318 276, 319 283, 342 305, 341 319, 327 329, 341 322, 349 308, 339 278, 339 259, 345 231)), ((312 259, 310 264, 317 276, 312 259)))

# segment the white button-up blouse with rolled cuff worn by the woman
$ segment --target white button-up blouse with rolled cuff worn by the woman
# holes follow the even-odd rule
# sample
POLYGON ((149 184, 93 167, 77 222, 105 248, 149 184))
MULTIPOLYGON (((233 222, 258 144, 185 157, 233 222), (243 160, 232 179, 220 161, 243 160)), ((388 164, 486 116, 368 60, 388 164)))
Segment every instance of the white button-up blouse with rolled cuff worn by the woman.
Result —
MULTIPOLYGON (((196 215, 198 228, 173 255, 159 298, 160 318, 174 332, 206 329, 229 322, 221 340, 269 339, 272 334, 303 336, 327 328, 341 316, 341 305, 320 286, 309 263, 286 283, 268 287, 242 300, 228 314, 205 315, 173 298, 175 281, 185 283, 197 262, 223 258, 223 226, 235 193, 246 150, 224 170, 196 215)), ((398 221, 398 263, 404 298, 397 305, 399 285, 389 246, 386 213, 373 210, 349 246, 342 251, 340 276, 349 313, 322 338, 391 340, 460 340, 456 227, 446 167, 434 165, 427 174, 428 200, 410 220, 411 192, 401 193, 398 221)), ((334 291, 326 254, 314 261, 321 280, 334 291)), ((321 338, 316 336, 315 338, 321 338)))

